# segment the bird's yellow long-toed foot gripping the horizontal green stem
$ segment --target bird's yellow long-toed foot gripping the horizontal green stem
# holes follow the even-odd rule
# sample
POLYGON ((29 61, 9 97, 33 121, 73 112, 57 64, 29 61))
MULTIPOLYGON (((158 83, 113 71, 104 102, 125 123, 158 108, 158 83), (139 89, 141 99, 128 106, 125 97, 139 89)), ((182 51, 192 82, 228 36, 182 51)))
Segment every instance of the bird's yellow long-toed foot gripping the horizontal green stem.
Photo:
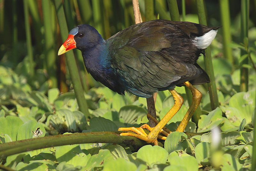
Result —
MULTIPOLYGON (((154 143, 154 145, 158 145, 158 139, 162 139, 165 140, 166 137, 161 136, 161 135, 157 135, 156 137, 150 137, 148 136, 148 134, 143 130, 143 129, 147 129, 150 132, 153 130, 153 128, 151 128, 148 124, 144 124, 141 125, 140 128, 135 128, 135 127, 130 127, 130 128, 119 128, 119 131, 132 131, 132 132, 125 132, 125 133, 121 133, 121 136, 132 136, 132 137, 136 137, 139 138, 143 141, 146 141, 147 143, 154 143)), ((160 131, 161 133, 163 133, 164 135, 167 135, 168 133, 164 130, 160 131)))

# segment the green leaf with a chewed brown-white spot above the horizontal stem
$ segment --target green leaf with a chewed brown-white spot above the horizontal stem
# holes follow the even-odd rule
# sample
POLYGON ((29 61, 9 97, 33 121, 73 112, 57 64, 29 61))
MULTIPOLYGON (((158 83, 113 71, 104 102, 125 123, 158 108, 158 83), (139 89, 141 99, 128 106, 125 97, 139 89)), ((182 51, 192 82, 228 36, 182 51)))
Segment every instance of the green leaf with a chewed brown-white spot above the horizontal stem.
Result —
POLYGON ((37 123, 35 120, 30 120, 20 126, 17 133, 17 140, 44 137, 44 135, 44 125, 37 123))

